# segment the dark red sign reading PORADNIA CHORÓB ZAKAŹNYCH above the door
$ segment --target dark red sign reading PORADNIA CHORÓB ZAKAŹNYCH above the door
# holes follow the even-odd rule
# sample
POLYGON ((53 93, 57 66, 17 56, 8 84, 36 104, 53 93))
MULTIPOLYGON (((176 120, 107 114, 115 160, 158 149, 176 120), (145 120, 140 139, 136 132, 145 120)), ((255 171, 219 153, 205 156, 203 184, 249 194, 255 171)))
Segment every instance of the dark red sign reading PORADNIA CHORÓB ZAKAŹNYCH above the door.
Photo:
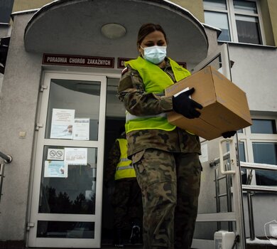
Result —
POLYGON ((45 65, 75 65, 93 68, 114 68, 114 58, 94 57, 82 55, 55 55, 43 54, 43 64, 45 65))

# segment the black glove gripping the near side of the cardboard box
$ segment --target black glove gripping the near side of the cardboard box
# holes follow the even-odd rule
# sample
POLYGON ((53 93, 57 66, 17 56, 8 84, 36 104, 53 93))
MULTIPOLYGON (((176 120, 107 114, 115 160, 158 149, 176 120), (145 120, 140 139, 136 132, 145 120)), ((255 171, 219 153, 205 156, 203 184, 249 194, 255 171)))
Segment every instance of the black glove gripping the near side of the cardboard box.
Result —
POLYGON ((202 109, 202 105, 191 100, 190 96, 195 91, 195 88, 191 88, 186 92, 180 93, 177 97, 172 98, 173 102, 173 110, 175 112, 180 113, 184 117, 188 117, 189 119, 199 117, 200 112, 198 112, 195 108, 202 109))

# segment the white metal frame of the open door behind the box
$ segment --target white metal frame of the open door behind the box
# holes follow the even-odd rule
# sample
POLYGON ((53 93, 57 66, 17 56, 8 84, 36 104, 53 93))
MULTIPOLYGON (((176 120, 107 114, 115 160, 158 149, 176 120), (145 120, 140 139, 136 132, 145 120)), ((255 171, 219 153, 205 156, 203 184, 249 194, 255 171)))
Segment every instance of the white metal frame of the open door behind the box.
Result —
MULTIPOLYGON (((198 70, 205 68, 206 65, 209 65, 212 60, 221 56, 222 63, 222 71, 221 73, 225 75, 226 78, 232 81, 231 67, 229 63, 229 51, 227 43, 223 43, 221 46, 217 48, 216 51, 211 53, 210 55, 202 60, 201 63, 195 66, 191 71, 192 73, 196 73, 198 70)), ((206 140, 205 140, 206 141, 206 140)), ((205 142, 203 141, 203 142, 205 142)), ((244 229, 244 210, 242 203, 242 190, 241 190, 241 169, 239 165, 239 157, 238 157, 238 140, 237 136, 234 136, 233 139, 221 139, 219 141, 219 158, 214 159, 214 161, 218 161, 221 163, 221 169, 223 164, 223 155, 222 155, 222 144, 223 142, 230 142, 230 153, 229 159, 231 163, 232 171, 222 172, 222 174, 230 174, 232 176, 232 202, 234 210, 232 212, 226 213, 202 213, 197 215, 197 222, 212 222, 212 221, 234 221, 236 222, 236 235, 240 236, 240 240, 237 242, 237 248, 244 249, 245 245, 245 229, 244 229)), ((195 248, 214 248, 213 240, 202 240, 202 239, 194 239, 193 246, 195 248)))

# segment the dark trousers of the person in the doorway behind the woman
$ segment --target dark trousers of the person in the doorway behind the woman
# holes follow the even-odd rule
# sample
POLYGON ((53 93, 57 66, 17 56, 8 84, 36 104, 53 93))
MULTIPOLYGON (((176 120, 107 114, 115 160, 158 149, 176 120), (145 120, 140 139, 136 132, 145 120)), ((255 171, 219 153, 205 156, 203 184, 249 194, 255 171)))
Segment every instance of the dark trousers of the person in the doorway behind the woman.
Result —
POLYGON ((115 181, 112 207, 115 229, 131 229, 134 224, 141 226, 141 189, 136 178, 129 181, 115 181))

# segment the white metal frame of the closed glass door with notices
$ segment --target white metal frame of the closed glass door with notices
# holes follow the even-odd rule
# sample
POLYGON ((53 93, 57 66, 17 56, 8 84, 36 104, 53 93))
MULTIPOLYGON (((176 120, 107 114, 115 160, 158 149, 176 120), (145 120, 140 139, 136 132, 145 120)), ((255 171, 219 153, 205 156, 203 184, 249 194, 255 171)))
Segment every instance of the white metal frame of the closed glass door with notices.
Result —
POLYGON ((33 183, 31 184, 30 218, 27 223, 27 246, 40 248, 100 248, 101 222, 102 222, 102 179, 104 164, 104 127, 106 115, 107 76, 85 73, 44 72, 40 89, 43 92, 38 101, 38 134, 33 149, 33 183), (99 129, 97 141, 78 141, 65 139, 45 139, 45 126, 48 110, 51 79, 60 80, 85 80, 100 82, 99 96, 99 129), (62 141, 61 141, 62 140, 62 141), (91 147, 97 148, 97 181, 95 214, 55 214, 38 213, 40 195, 40 176, 42 171, 43 147, 47 145, 68 147, 91 147), (37 224, 40 221, 90 221, 94 222, 94 239, 87 238, 37 238, 37 224))

